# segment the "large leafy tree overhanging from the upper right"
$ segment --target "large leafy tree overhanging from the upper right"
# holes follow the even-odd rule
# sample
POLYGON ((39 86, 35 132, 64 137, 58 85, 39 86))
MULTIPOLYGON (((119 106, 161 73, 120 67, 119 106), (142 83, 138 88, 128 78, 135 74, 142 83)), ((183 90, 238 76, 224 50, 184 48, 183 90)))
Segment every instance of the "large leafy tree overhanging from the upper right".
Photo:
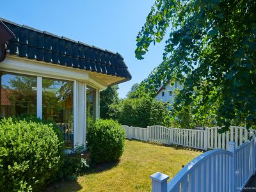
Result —
POLYGON ((184 89, 175 108, 200 98, 202 106, 218 105, 216 119, 225 125, 223 131, 235 119, 255 125, 255 10, 252 0, 157 0, 138 33, 136 58, 143 59, 152 43, 164 39, 166 45, 163 63, 145 87, 156 90, 176 79, 184 89))

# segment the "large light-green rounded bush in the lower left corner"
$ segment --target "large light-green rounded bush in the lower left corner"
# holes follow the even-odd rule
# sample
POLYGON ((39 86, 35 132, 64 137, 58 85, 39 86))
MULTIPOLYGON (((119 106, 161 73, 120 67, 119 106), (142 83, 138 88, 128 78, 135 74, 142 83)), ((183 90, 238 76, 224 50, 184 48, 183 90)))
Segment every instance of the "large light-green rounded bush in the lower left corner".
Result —
POLYGON ((0 191, 39 191, 63 161, 53 124, 26 118, 0 121, 0 191))

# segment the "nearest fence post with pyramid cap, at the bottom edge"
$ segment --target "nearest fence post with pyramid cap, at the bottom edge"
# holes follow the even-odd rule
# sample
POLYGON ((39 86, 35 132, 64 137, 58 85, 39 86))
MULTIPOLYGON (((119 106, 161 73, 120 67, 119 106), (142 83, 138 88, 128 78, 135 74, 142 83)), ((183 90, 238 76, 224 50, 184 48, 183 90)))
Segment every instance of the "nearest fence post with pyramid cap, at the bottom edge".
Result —
POLYGON ((156 172, 150 175, 150 178, 152 179, 152 192, 167 192, 168 175, 156 172))

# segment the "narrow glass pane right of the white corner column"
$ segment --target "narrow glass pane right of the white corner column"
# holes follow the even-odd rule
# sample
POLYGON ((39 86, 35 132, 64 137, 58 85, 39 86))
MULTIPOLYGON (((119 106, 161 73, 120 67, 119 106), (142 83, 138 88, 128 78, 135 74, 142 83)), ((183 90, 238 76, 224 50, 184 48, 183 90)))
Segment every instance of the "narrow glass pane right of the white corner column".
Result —
POLYGON ((96 91, 93 88, 86 88, 86 127, 90 127, 96 115, 96 91))

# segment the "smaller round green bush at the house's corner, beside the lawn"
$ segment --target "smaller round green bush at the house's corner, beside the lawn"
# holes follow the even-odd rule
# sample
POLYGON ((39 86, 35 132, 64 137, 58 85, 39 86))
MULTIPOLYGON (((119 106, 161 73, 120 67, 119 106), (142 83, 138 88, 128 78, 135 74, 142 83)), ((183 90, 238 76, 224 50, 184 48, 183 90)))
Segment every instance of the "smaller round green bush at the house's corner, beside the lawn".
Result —
POLYGON ((114 120, 99 119, 88 129, 87 141, 93 163, 110 163, 124 152, 125 132, 114 120))

